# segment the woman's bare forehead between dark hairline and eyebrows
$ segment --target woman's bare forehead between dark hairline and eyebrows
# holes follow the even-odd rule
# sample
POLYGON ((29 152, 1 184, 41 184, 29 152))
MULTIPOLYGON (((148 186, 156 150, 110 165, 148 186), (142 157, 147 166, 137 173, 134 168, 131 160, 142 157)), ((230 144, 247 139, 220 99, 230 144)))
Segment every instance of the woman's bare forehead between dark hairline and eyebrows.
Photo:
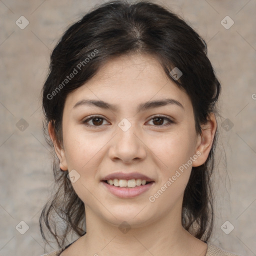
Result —
POLYGON ((145 54, 109 59, 90 80, 68 94, 66 105, 72 107, 84 98, 114 102, 125 108, 172 98, 184 108, 191 108, 188 95, 167 77, 154 57, 145 54))

